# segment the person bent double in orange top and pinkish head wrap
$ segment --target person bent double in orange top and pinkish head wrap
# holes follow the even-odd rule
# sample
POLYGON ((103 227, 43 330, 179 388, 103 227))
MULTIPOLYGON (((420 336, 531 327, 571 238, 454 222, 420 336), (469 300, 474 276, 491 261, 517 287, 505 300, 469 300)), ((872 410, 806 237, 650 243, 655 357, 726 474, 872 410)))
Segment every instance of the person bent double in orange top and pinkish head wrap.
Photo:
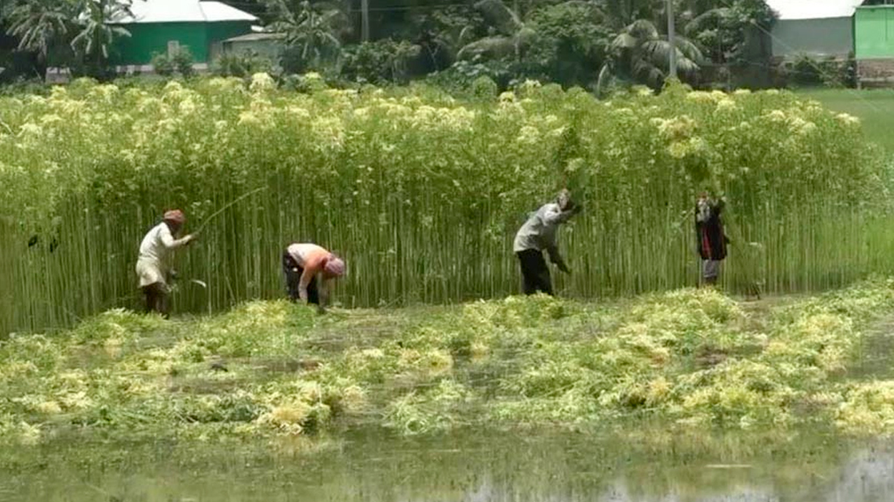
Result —
POLYGON ((329 282, 344 275, 344 262, 324 247, 294 243, 283 252, 283 272, 291 301, 314 304, 323 314, 329 299, 329 282))

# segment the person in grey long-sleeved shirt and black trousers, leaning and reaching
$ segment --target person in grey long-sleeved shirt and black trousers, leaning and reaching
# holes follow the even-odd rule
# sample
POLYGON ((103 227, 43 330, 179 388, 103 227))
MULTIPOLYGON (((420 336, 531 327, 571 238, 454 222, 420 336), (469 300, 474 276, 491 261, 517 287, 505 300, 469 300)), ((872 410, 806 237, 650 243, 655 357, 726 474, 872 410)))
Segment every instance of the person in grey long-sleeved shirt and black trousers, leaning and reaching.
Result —
POLYGON ((544 250, 550 261, 565 273, 571 273, 559 254, 559 225, 568 222, 571 216, 580 212, 580 206, 571 201, 567 189, 560 192, 555 202, 544 205, 531 214, 519 232, 515 234, 513 251, 519 256, 521 275, 524 279, 525 294, 533 295, 537 290, 552 295, 550 269, 544 261, 544 250))

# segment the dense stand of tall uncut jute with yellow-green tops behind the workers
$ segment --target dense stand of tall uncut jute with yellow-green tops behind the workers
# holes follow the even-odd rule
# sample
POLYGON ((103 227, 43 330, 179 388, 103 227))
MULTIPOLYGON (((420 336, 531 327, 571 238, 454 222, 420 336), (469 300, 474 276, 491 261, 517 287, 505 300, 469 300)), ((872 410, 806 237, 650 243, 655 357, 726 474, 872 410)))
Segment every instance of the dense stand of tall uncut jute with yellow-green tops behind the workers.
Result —
POLYGON ((889 228, 880 155, 853 117, 784 92, 601 102, 529 83, 470 105, 429 88, 294 94, 258 75, 77 82, 4 98, 0 120, 6 331, 136 305, 139 239, 170 207, 204 225, 179 268, 208 288, 182 281, 180 311, 281 295, 293 240, 346 258, 346 306, 517 292, 512 236, 565 185, 586 206, 563 230, 565 295, 695 284, 703 188, 730 201, 730 289, 822 289, 888 269, 890 230, 870 230, 889 228))

